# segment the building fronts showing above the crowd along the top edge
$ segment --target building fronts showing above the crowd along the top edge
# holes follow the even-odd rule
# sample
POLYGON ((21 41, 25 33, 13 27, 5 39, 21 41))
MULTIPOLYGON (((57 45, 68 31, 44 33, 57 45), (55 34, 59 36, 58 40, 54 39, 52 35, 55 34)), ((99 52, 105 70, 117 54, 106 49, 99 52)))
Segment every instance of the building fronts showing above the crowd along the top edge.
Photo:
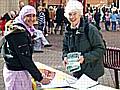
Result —
MULTIPOLYGON (((6 12, 9 12, 11 10, 19 10, 19 1, 23 1, 25 4, 33 5, 37 8, 39 5, 45 5, 46 7, 50 5, 60 5, 60 4, 66 4, 69 0, 0 0, 0 15, 3 15, 6 12)), ((114 6, 119 7, 120 1, 119 0, 78 0, 78 1, 84 1, 85 6, 87 4, 91 6, 102 6, 104 5, 111 5, 112 3, 114 6)), ((120 8, 120 7, 119 7, 120 8)))

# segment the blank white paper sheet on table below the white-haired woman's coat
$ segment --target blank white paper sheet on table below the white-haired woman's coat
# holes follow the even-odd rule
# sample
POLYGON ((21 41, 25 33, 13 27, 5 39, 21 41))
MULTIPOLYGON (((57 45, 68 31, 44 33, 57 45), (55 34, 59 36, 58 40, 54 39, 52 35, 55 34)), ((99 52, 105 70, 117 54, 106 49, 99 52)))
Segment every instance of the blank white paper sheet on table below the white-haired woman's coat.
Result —
POLYGON ((92 80, 91 78, 89 78, 87 75, 83 74, 80 79, 78 79, 76 81, 75 84, 72 84, 71 86, 72 87, 75 87, 75 88, 79 88, 79 89, 82 89, 82 90, 86 90, 87 88, 91 87, 91 86, 94 86, 94 85, 97 85, 98 82, 92 80))

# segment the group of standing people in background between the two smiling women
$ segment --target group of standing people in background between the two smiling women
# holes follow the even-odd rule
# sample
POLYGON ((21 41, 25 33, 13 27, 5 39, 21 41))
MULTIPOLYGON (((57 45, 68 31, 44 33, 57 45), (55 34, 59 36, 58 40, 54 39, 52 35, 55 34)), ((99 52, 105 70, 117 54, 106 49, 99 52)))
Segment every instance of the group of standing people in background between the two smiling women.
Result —
POLYGON ((48 34, 57 34, 60 31, 60 35, 63 34, 64 26, 64 6, 59 5, 57 8, 49 6, 45 8, 38 6, 38 29, 42 30, 45 36, 48 34))

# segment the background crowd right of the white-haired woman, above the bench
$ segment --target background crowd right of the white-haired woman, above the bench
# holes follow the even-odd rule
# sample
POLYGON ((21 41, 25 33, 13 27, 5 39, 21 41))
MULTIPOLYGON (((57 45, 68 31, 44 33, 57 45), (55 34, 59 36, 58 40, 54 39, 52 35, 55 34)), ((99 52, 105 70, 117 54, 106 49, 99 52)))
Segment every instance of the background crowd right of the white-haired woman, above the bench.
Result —
POLYGON ((90 7, 87 9, 85 16, 88 22, 96 25, 98 30, 114 32, 120 29, 120 10, 116 7, 90 7), (101 26, 102 28, 100 28, 101 26))

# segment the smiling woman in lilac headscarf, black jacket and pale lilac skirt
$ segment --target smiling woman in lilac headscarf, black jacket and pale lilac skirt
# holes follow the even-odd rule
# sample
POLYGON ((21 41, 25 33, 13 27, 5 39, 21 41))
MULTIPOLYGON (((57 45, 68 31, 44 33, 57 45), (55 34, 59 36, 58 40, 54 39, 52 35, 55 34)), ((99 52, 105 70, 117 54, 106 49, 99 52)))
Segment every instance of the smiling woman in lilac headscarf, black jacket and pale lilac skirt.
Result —
POLYGON ((32 37, 36 10, 30 5, 24 6, 19 16, 9 26, 4 39, 5 65, 3 77, 5 90, 32 90, 31 76, 42 84, 50 83, 44 78, 32 61, 32 37))

